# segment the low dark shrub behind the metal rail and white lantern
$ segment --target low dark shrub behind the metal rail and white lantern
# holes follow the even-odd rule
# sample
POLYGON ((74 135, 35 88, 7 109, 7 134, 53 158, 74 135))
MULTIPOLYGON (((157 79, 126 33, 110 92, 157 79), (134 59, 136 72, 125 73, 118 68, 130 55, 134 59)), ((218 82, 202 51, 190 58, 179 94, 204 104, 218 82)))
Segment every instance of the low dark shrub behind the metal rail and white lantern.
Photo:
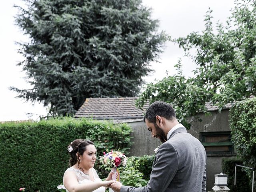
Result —
MULTIPOLYGON (((224 174, 228 175, 228 188, 230 192, 235 192, 234 188, 234 178, 235 178, 235 165, 242 165, 242 160, 224 158, 222 160, 222 170, 224 174)), ((250 180, 241 168, 236 168, 236 191, 237 192, 246 192, 251 191, 250 180)))

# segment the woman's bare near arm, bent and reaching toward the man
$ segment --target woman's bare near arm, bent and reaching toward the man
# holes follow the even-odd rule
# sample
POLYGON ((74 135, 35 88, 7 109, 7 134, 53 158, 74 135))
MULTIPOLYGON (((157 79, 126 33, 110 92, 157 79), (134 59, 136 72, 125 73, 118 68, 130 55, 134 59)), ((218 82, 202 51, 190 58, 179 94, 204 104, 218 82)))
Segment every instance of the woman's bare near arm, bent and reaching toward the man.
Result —
POLYGON ((65 188, 69 192, 92 192, 100 187, 104 187, 112 184, 113 181, 100 181, 100 182, 78 184, 76 179, 76 174, 72 171, 66 171, 63 176, 63 183, 65 188))

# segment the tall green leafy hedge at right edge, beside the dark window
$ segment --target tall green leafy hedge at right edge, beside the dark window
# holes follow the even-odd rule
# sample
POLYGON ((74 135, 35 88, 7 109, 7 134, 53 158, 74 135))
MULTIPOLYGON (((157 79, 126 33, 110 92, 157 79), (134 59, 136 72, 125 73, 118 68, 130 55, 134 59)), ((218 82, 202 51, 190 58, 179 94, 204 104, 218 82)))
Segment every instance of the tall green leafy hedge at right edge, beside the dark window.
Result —
POLYGON ((256 98, 235 104, 229 120, 238 158, 244 166, 256 168, 256 98))

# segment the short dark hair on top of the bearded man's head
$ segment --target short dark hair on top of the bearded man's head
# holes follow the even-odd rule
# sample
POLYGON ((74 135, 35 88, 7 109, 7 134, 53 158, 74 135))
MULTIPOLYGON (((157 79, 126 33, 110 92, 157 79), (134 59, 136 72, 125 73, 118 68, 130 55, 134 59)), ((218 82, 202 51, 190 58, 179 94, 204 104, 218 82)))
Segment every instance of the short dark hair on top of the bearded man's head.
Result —
POLYGON ((144 116, 144 122, 146 122, 147 119, 149 122, 156 124, 157 115, 164 117, 167 120, 173 120, 173 118, 176 118, 174 108, 170 104, 162 101, 156 101, 148 107, 144 116))

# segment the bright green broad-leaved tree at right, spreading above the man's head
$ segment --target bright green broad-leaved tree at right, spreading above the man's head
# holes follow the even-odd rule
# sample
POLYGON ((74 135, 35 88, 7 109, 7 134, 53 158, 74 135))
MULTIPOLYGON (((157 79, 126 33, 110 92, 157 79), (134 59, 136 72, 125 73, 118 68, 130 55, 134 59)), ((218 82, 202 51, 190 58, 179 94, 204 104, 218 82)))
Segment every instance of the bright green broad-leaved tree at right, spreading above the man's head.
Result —
POLYGON ((209 8, 202 34, 192 32, 185 38, 171 39, 196 63, 194 76, 185 78, 178 73, 149 84, 137 101, 138 106, 142 107, 146 100, 164 100, 177 108, 178 118, 183 120, 204 112, 206 102, 222 110, 227 103, 256 94, 256 4, 252 0, 236 0, 226 26, 217 24, 216 30, 211 12, 209 8), (196 50, 195 55, 192 49, 196 50))

